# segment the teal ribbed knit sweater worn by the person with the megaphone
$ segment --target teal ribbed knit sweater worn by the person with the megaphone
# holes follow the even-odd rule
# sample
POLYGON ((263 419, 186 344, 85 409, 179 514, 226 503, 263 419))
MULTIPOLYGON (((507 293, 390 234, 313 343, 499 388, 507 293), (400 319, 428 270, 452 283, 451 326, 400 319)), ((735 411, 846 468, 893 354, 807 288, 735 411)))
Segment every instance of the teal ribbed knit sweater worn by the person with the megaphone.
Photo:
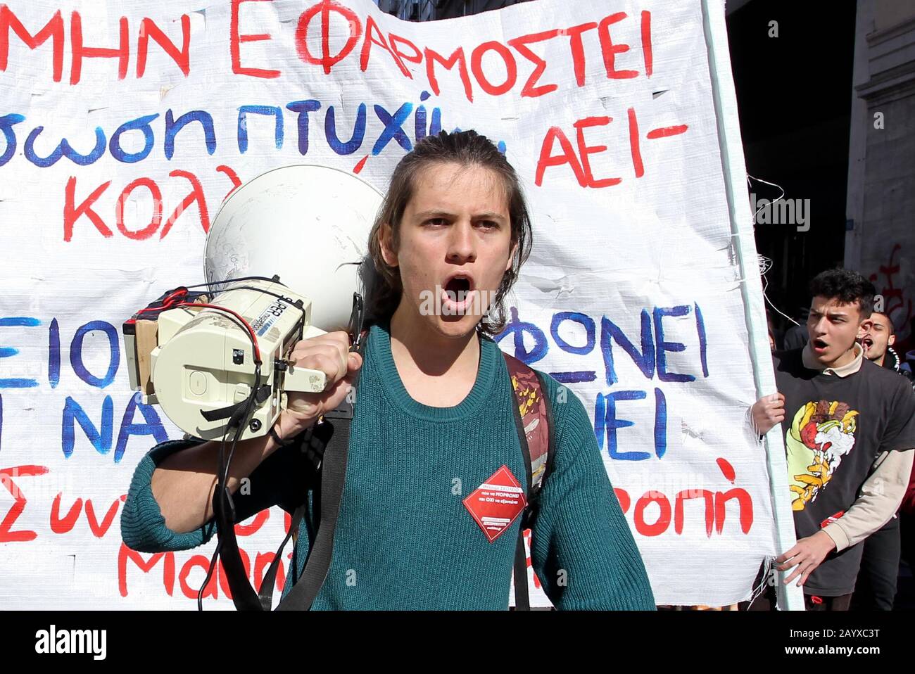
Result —
MULTIPOLYGON (((532 527, 534 572, 559 609, 653 609, 644 564, 587 412, 570 390, 557 399, 560 384, 545 379, 556 449, 532 527)), ((438 408, 410 397, 391 356, 388 327, 371 327, 333 558, 315 609, 508 607, 521 518, 490 542, 463 499, 501 465, 525 485, 514 404, 508 369, 489 337, 480 339, 479 371, 467 398, 438 408)), ((188 533, 167 529, 150 489, 156 465, 187 446, 181 441, 156 445, 137 465, 121 518, 128 547, 188 550, 212 537, 213 520, 188 533)), ((252 492, 281 491, 278 484, 259 484, 255 476, 256 471, 252 492)), ((274 471, 271 479, 295 478, 274 471)), ((277 503, 285 505, 275 496, 250 508, 250 514, 277 503)), ((299 574, 307 546, 303 521, 294 555, 299 574)), ((292 580, 287 574, 284 595, 292 580)))

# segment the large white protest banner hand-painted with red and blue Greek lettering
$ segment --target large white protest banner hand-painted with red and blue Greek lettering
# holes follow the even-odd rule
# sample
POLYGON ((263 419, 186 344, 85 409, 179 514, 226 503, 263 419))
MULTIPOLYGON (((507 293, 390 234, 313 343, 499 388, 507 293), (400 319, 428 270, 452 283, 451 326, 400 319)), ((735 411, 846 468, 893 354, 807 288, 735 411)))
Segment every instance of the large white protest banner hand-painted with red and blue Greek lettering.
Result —
MULTIPOLYGON (((775 552, 746 422, 765 337, 747 329, 759 275, 709 13, 720 33, 723 6, 700 0, 427 24, 368 0, 0 5, 3 605, 194 606, 212 543, 148 555, 120 538, 135 465, 179 436, 129 389, 120 326, 203 281, 210 220, 243 181, 309 163, 383 190, 455 128, 500 144, 533 208, 501 348, 593 412, 657 601, 747 598, 775 552)), ((284 523, 274 508, 242 528, 258 583, 284 523)), ((226 588, 217 572, 207 605, 231 607, 226 588)))

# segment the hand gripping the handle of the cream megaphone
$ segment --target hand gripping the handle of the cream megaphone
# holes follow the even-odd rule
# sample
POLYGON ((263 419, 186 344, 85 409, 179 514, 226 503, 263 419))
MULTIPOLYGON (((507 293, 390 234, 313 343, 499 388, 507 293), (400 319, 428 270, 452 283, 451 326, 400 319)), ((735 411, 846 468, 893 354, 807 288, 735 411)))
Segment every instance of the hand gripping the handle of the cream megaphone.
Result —
POLYGON ((328 384, 321 393, 287 393, 286 409, 276 429, 284 439, 305 431, 319 416, 337 409, 362 367, 361 355, 350 351, 350 335, 345 330, 300 340, 288 359, 296 367, 321 370, 328 384))

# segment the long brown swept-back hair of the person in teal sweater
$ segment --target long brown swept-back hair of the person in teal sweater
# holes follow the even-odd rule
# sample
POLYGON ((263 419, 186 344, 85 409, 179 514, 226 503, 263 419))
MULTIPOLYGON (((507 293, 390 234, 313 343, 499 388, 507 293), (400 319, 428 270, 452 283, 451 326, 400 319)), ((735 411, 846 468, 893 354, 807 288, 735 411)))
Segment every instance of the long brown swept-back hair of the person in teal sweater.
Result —
POLYGON ((388 320, 400 303, 404 286, 401 284, 400 270, 389 266, 382 257, 382 225, 385 222, 391 224, 392 245, 396 251, 400 244, 400 221, 404 209, 413 198, 416 177, 432 164, 483 166, 501 177, 511 219, 511 245, 517 243, 518 247, 511 261, 511 269, 502 277, 495 300, 490 305, 487 320, 480 321, 477 326, 478 331, 485 335, 498 335, 507 322, 503 305, 505 295, 518 280, 521 265, 531 254, 531 218, 521 181, 514 168, 489 138, 475 131, 458 131, 453 134, 443 131, 435 136, 426 136, 415 144, 413 150, 394 169, 391 185, 369 234, 370 259, 362 264, 362 277, 366 285, 366 319, 369 323, 388 320))

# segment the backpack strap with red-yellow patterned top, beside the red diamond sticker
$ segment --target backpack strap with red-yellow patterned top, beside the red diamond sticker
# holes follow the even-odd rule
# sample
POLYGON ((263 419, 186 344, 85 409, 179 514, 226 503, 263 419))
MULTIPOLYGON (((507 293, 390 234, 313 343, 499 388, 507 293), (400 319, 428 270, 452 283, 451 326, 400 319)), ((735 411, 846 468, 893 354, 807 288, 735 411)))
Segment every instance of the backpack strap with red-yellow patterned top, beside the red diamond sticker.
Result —
POLYGON ((527 554, 524 550, 524 530, 536 517, 544 479, 552 470, 554 456, 553 418, 550 401, 545 394, 546 383, 529 365, 502 352, 511 376, 514 391, 515 428, 521 443, 527 476, 527 507, 524 508, 518 543, 515 547, 514 586, 515 610, 531 608, 527 587, 527 554))

